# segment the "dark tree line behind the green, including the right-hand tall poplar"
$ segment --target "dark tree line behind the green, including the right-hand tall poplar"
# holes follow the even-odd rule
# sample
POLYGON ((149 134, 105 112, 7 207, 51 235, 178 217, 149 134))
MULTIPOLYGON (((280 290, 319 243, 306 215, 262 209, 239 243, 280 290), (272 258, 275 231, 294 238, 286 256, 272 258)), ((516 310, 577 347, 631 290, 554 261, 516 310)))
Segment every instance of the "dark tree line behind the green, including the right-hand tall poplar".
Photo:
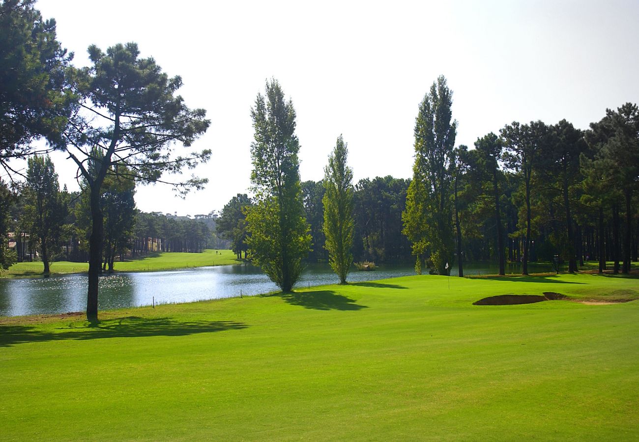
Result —
MULTIPOLYGON (((456 264, 564 263, 576 271, 585 260, 612 261, 628 272, 639 255, 636 210, 639 176, 639 112, 626 103, 607 110, 589 130, 566 120, 505 125, 455 147, 452 91, 440 77, 420 103, 415 122, 412 179, 361 179, 353 187, 351 254, 355 261, 416 259, 432 273, 456 264)), ((266 166, 261 166, 266 167, 266 166)), ((328 261, 325 185, 300 183, 308 224, 309 261, 328 261)), ((244 208, 238 194, 224 207, 219 232, 236 253, 249 252, 244 208)))

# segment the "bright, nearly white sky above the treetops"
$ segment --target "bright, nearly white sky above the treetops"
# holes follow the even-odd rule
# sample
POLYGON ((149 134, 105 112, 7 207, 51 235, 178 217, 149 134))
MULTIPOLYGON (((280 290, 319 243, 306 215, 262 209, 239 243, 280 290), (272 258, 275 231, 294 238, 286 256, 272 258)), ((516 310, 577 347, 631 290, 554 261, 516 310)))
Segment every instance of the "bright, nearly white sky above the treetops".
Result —
MULTIPOLYGON (((512 121, 561 119, 587 128, 606 108, 639 102, 639 2, 628 1, 142 1, 40 0, 58 40, 86 49, 136 42, 212 124, 194 148, 209 179, 186 199, 139 186, 142 211, 221 210, 250 187, 250 108, 279 80, 297 114, 302 181, 323 178, 339 135, 355 181, 410 178, 420 101, 438 75, 453 91, 456 144, 512 121)), ((62 184, 75 167, 54 154, 62 184)))

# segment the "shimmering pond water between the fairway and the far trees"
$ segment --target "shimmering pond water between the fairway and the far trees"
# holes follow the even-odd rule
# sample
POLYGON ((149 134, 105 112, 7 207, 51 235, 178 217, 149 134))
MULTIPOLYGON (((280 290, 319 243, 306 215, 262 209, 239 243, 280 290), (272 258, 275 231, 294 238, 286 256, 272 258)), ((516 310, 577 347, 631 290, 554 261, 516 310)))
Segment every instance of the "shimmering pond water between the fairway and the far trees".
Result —
MULTIPOLYGON (((116 264, 117 268, 117 264, 116 264)), ((497 273, 486 264, 465 266, 465 275, 497 273)), ((518 267, 506 273, 517 273, 518 267)), ((530 266, 530 271, 551 271, 547 266, 530 266)), ((415 275, 412 266, 378 266, 375 271, 351 271, 348 280, 361 282, 415 275)), ((457 275, 452 268, 450 275, 457 275)), ((338 282, 328 264, 310 264, 295 287, 321 286, 338 282)), ((86 309, 86 274, 50 278, 0 279, 0 316, 56 314, 86 309)), ((277 291, 277 286, 259 268, 250 264, 200 267, 186 270, 116 273, 100 277, 98 309, 117 309, 155 303, 178 303, 277 291)))

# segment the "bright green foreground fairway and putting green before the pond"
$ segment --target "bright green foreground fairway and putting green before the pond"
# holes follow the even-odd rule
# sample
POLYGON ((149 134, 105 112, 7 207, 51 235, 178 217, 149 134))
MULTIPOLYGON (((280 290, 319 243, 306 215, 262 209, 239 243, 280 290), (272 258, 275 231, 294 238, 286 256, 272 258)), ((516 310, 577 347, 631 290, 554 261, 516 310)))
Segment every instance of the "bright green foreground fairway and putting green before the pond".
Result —
POLYGON ((448 282, 0 319, 2 439, 639 439, 639 301, 472 305, 639 279, 448 282))

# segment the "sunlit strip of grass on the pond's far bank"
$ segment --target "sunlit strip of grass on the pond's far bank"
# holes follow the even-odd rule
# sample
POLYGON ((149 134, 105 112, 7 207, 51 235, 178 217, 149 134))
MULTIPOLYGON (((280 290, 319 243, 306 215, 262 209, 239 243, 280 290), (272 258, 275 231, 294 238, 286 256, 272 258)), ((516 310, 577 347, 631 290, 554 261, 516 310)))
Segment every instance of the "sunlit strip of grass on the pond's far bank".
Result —
MULTIPOLYGON (((156 271, 172 270, 176 268, 203 267, 203 266, 223 266, 227 264, 238 264, 242 261, 236 259, 236 255, 231 250, 207 249, 201 253, 180 253, 180 252, 155 252, 152 255, 139 259, 128 259, 127 261, 116 261, 114 269, 116 271, 156 271)), ((88 263, 72 263, 70 261, 58 261, 50 263, 50 271, 55 273, 79 273, 89 270, 88 263)), ((43 264, 16 263, 0 272, 2 277, 8 276, 35 276, 42 275, 43 264)))

